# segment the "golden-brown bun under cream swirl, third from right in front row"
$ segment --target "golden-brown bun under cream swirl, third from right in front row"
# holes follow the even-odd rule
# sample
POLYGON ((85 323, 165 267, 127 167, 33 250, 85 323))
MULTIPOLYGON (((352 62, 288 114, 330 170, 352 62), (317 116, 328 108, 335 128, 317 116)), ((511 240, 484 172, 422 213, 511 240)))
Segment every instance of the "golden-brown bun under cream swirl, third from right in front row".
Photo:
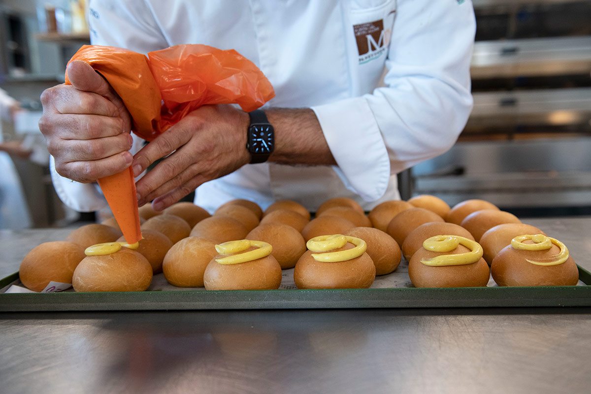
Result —
MULTIPOLYGON (((346 243, 343 248, 332 252, 353 247, 346 243)), ((312 253, 318 252, 307 250, 294 269, 294 281, 298 289, 366 289, 374 283, 375 265, 367 253, 348 261, 333 263, 316 261, 312 253)))

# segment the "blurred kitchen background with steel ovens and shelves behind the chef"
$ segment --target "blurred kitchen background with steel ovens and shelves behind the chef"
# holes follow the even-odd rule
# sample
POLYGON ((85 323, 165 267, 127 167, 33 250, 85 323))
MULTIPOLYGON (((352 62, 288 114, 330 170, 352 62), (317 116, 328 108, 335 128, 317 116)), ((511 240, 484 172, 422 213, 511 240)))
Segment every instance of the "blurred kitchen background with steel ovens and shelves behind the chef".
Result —
MULTIPOLYGON (((474 110, 449 152, 399 175, 402 197, 483 198, 518 216, 591 214, 591 1, 473 4, 474 110)), ((41 92, 63 82, 67 60, 89 43, 85 8, 83 0, 0 1, 0 87, 26 109, 1 123, 0 141, 33 151, 11 157, 30 213, 21 227, 89 219, 53 191, 37 127, 41 92)))

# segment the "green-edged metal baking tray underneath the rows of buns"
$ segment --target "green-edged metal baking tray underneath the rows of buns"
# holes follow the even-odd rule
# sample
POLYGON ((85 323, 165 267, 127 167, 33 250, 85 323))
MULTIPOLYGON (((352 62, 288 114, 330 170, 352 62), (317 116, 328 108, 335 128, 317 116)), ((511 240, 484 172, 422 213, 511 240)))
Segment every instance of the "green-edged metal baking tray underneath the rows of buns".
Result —
POLYGON ((577 286, 414 288, 403 260, 369 289, 297 289, 293 269, 278 290, 206 291, 175 288, 162 273, 148 291, 4 294, 18 272, 0 280, 0 312, 121 310, 249 310, 304 308, 591 307, 591 273, 579 266, 577 286))

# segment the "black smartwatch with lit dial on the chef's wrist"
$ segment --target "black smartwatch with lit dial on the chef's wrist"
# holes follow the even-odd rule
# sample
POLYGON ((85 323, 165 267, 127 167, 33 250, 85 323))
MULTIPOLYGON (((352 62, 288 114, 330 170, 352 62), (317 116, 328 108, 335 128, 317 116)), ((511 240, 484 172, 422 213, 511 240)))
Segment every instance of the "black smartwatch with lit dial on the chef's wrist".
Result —
POLYGON ((275 131, 261 109, 248 113, 251 123, 246 136, 246 149, 251 154, 251 164, 267 161, 275 149, 275 131))

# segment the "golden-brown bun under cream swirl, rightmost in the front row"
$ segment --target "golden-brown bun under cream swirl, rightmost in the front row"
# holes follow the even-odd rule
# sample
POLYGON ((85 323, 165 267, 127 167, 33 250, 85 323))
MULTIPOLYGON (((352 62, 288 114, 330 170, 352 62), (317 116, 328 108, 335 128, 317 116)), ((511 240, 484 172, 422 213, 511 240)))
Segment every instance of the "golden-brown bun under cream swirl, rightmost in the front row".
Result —
POLYGON ((526 261, 551 261, 559 252, 560 248, 554 244, 540 251, 505 246, 492 261, 492 279, 499 286, 574 286, 579 281, 579 270, 570 256, 559 265, 540 266, 526 261))

